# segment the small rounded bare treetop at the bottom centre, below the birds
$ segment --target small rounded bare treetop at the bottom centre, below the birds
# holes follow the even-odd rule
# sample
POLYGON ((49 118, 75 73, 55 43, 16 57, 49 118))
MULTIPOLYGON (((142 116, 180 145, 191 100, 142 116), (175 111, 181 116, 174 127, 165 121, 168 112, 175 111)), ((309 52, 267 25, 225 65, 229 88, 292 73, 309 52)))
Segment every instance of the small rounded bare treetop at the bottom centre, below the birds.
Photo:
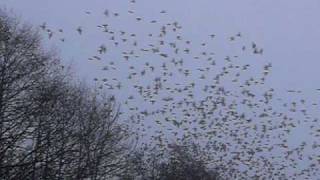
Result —
POLYGON ((172 144, 166 150, 143 148, 129 158, 124 180, 218 180, 219 173, 207 164, 206 154, 198 145, 172 144))

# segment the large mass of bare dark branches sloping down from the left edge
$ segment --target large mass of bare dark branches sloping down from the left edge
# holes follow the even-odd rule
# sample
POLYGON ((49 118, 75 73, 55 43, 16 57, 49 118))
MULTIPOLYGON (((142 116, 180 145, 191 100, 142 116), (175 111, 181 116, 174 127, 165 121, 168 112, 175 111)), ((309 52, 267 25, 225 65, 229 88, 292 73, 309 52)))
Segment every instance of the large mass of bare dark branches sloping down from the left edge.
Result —
POLYGON ((0 177, 106 179, 128 148, 119 107, 73 82, 29 25, 0 11, 0 177))

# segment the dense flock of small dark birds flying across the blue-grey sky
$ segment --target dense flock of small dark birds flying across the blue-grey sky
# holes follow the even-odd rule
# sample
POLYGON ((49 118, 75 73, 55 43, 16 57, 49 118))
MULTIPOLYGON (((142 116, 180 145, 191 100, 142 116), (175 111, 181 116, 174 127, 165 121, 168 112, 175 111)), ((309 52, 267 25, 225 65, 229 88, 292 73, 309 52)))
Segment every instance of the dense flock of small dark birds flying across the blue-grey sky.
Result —
MULTIPOLYGON (((200 43, 190 40, 178 21, 137 16, 135 4, 130 1, 127 13, 101 13, 105 23, 96 30, 102 42, 88 61, 99 62, 103 77, 94 78, 95 83, 115 95, 121 117, 142 145, 165 150, 173 142, 197 142, 212 164, 226 167, 223 175, 229 179, 320 178, 319 119, 311 111, 318 104, 300 96, 280 98, 267 83, 272 64, 260 60, 261 47, 242 44, 243 34, 235 33, 222 38, 226 46, 236 47, 233 55, 225 55, 213 48, 221 43, 218 35, 209 34, 200 43), (122 16, 149 32, 113 26, 122 16), (301 129, 308 141, 292 143, 301 129)), ((160 10, 159 16, 168 16, 167 11, 160 10)), ((63 29, 46 23, 40 28, 49 39, 67 41, 63 29)), ((87 31, 74 28, 78 38, 87 31)))

